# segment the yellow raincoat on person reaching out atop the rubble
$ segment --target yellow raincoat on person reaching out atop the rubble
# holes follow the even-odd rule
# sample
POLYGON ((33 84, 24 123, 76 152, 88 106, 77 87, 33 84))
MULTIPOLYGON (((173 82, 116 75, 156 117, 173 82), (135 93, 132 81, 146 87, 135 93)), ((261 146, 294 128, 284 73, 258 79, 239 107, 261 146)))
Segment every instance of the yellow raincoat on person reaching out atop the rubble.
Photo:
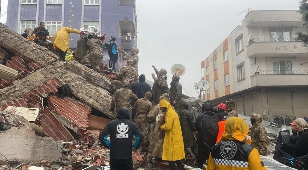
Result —
POLYGON ((79 34, 80 31, 69 27, 62 27, 60 30, 57 30, 52 38, 52 46, 54 49, 58 48, 62 51, 66 51, 68 45, 70 45, 69 38, 71 33, 79 34))

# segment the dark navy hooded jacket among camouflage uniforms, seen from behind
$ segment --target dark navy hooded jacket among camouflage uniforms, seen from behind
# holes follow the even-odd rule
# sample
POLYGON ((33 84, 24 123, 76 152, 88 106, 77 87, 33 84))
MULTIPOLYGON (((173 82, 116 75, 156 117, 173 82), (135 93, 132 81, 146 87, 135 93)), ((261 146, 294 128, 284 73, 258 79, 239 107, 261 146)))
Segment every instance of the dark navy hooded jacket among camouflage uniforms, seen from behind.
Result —
MULTIPOLYGON (((139 99, 144 98, 146 92, 151 92, 151 86, 145 82, 145 75, 142 74, 139 76, 139 82, 133 83, 131 90, 138 96, 139 99)), ((154 95, 152 93, 152 98, 150 101, 152 102, 154 99, 154 95)))

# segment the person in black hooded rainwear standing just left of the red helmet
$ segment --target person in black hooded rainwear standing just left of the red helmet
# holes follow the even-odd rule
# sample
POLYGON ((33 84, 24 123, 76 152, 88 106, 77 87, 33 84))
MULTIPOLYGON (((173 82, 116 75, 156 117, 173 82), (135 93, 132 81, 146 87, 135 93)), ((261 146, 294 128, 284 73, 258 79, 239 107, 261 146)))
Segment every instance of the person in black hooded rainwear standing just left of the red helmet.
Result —
POLYGON ((218 135, 219 119, 213 112, 212 104, 209 100, 202 103, 202 113, 197 117, 194 124, 195 134, 198 143, 198 168, 202 168, 209 158, 211 148, 216 144, 218 135))

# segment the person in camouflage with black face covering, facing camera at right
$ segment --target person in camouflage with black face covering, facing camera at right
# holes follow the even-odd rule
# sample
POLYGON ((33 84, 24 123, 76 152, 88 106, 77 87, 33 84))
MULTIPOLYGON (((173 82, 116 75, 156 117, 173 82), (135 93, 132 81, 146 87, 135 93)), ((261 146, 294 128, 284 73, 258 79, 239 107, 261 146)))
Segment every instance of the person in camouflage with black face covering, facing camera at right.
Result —
POLYGON ((259 114, 252 114, 250 117, 251 127, 251 145, 256 148, 260 155, 267 156, 267 132, 265 127, 261 124, 262 116, 259 114))

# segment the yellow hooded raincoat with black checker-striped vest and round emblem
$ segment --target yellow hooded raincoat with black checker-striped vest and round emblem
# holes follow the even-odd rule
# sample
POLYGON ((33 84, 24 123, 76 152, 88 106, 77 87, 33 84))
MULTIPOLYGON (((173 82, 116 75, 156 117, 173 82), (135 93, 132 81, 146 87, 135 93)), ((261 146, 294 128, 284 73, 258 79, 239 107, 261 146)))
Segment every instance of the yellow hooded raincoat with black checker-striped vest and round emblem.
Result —
MULTIPOLYGON (((248 134, 248 129, 249 127, 245 123, 244 119, 240 117, 230 117, 226 121, 225 133, 222 136, 221 140, 231 140, 231 141, 237 140, 237 141, 245 142, 246 144, 250 144, 251 140, 246 139, 247 134, 248 134)), ((249 153, 249 156, 248 156, 249 166, 238 166, 236 165, 237 162, 241 162, 241 161, 233 160, 233 158, 229 158, 228 160, 225 160, 226 162, 228 162, 228 165, 225 164, 224 161, 217 162, 217 159, 220 158, 219 155, 212 156, 212 153, 215 153, 215 150, 217 149, 221 150, 219 145, 221 146, 222 142, 225 142, 225 141, 221 141, 213 146, 211 150, 211 154, 209 156, 208 166, 206 167, 206 170, 257 170, 257 169, 266 170, 263 162, 261 161, 259 152, 256 148, 253 148, 251 152, 249 153), (216 160, 216 162, 214 162, 214 159, 216 160), (233 162, 235 165, 231 165, 233 164, 233 162)), ((252 146, 249 145, 246 147, 252 147, 252 146)), ((241 152, 240 148, 235 149, 235 152, 237 151, 241 152)))

